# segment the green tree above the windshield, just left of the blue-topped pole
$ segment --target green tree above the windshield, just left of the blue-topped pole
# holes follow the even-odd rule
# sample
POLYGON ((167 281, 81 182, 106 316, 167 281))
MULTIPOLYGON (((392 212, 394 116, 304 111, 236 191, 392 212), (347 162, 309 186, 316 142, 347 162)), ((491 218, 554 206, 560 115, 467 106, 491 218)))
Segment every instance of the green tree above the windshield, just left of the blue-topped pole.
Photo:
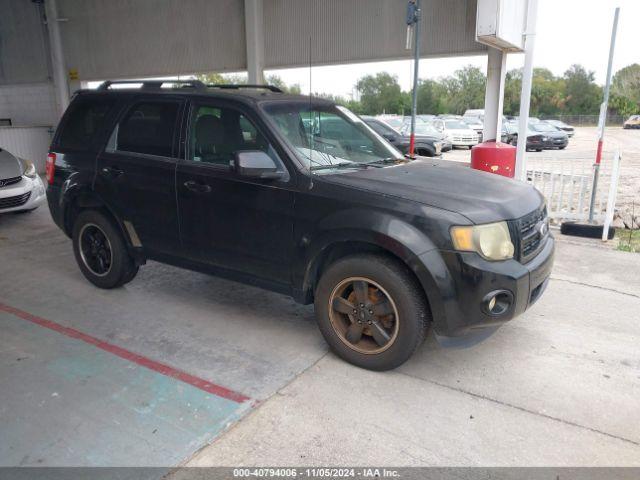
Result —
POLYGON ((407 107, 398 78, 381 72, 367 75, 358 80, 356 88, 360 93, 362 113, 403 113, 407 107))

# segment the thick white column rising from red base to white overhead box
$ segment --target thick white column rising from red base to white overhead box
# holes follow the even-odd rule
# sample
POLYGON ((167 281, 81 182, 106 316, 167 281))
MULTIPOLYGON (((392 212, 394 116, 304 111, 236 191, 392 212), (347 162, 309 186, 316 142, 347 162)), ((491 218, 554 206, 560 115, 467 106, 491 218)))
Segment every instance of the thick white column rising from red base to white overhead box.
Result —
POLYGON ((487 62, 487 89, 484 97, 483 140, 496 140, 502 132, 502 106, 504 104, 504 79, 507 73, 507 54, 489 48, 487 62))

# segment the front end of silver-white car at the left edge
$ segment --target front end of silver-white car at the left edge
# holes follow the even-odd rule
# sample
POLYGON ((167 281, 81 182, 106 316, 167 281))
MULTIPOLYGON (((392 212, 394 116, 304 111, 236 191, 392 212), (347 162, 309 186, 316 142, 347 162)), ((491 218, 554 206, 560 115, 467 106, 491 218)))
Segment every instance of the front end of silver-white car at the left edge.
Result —
POLYGON ((0 149, 0 213, 29 212, 46 199, 33 163, 0 149))

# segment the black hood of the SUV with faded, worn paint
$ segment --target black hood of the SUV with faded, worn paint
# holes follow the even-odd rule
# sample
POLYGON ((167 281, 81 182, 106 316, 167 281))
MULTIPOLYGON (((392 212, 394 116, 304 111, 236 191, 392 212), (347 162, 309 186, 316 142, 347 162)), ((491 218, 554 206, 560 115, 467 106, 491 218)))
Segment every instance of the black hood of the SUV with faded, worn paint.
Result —
POLYGON ((477 224, 515 220, 543 202, 530 185, 445 161, 414 160, 322 179, 456 212, 477 224))

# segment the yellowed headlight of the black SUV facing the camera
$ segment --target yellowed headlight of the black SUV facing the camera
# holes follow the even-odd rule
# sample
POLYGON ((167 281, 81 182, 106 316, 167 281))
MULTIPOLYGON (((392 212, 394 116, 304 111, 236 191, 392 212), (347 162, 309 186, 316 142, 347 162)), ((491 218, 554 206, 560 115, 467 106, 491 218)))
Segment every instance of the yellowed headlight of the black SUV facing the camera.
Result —
POLYGON ((452 227, 451 240, 456 250, 477 252, 487 260, 513 258, 515 250, 507 222, 452 227))

